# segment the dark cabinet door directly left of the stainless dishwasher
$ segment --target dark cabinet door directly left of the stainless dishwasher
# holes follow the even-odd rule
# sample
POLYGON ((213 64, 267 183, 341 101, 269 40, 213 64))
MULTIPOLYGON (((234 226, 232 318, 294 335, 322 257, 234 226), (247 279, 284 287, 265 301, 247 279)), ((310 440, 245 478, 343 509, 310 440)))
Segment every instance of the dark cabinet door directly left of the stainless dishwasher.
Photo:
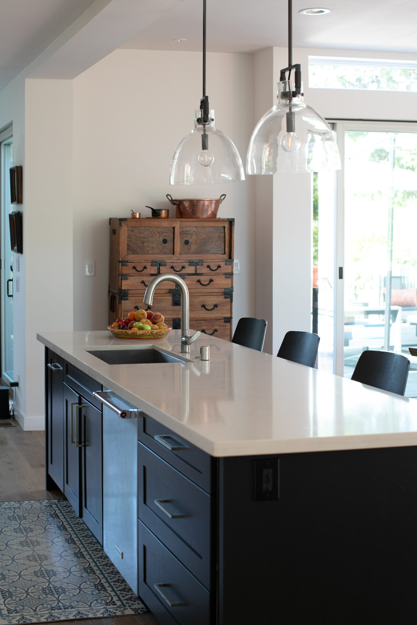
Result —
POLYGON ((103 424, 101 411, 83 399, 82 457, 84 523, 103 544, 103 424))

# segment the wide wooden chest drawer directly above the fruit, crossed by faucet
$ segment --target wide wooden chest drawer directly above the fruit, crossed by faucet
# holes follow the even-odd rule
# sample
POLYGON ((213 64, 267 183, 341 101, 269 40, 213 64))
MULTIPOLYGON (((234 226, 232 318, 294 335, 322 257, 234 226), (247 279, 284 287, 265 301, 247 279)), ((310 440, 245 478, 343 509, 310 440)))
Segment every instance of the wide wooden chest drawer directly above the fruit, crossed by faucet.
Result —
MULTIPOLYGON (((122 299, 121 314, 126 316, 129 312, 143 308, 143 294, 131 295, 128 299, 122 299)), ((145 307, 146 309, 146 307, 145 307)), ((181 296, 179 294, 155 295, 152 309, 161 312, 167 319, 181 317, 181 296)), ((190 319, 218 319, 219 317, 231 316, 231 299, 223 293, 189 296, 190 319)))

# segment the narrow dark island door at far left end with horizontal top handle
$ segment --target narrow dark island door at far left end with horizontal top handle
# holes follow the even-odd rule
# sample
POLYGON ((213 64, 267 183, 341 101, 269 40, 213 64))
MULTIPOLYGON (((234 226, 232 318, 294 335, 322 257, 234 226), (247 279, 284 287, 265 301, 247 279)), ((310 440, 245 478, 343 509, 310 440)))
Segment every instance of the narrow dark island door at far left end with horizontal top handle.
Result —
POLYGON ((48 474, 64 490, 63 359, 48 350, 48 474))

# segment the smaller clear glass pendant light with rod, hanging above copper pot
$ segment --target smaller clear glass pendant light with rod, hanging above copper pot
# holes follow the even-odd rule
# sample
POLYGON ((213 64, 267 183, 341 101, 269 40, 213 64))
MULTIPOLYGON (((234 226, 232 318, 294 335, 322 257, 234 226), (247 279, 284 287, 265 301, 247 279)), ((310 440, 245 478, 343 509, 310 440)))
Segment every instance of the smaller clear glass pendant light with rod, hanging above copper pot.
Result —
POLYGON ((206 95, 206 0, 203 0, 203 98, 194 111, 194 129, 184 137, 171 163, 169 184, 214 184, 244 180, 242 160, 226 134, 214 126, 206 95))

